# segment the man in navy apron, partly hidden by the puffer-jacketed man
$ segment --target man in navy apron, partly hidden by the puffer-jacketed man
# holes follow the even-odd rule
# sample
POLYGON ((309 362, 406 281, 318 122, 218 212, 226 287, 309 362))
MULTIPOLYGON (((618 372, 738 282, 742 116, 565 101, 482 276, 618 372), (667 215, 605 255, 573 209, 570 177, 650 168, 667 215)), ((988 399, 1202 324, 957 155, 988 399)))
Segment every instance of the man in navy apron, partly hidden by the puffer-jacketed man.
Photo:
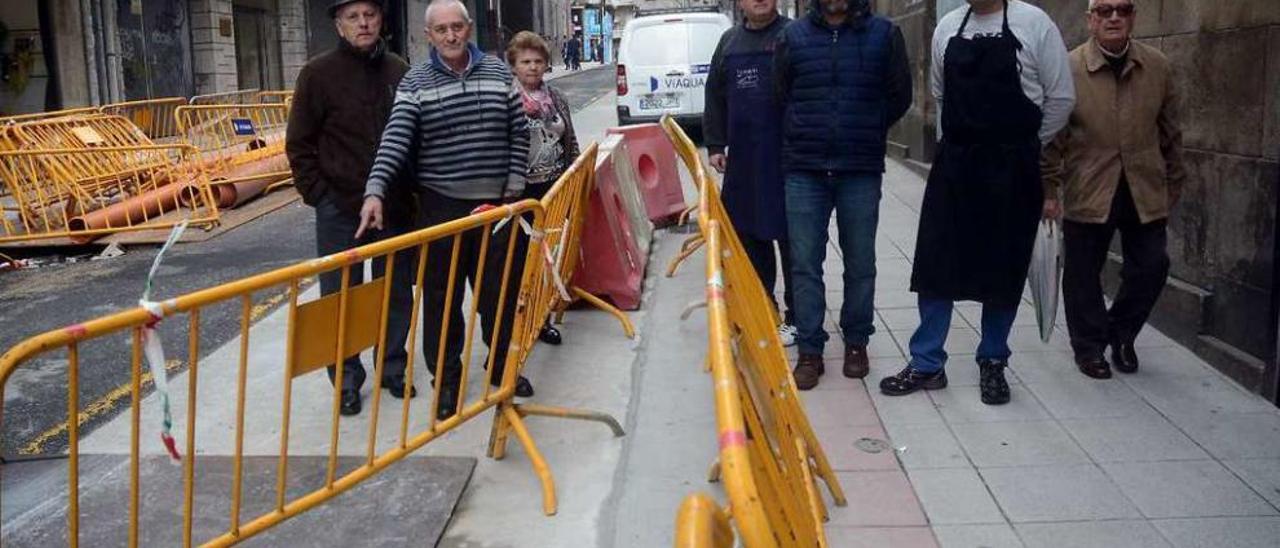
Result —
POLYGON ((742 26, 724 32, 712 56, 703 133, 712 166, 724 173, 724 209, 769 297, 777 283, 774 242, 782 254, 786 312, 778 338, 783 346, 792 346, 795 306, 782 189, 782 108, 773 93, 773 46, 790 19, 778 14, 777 0, 739 0, 739 8, 745 18, 742 26))

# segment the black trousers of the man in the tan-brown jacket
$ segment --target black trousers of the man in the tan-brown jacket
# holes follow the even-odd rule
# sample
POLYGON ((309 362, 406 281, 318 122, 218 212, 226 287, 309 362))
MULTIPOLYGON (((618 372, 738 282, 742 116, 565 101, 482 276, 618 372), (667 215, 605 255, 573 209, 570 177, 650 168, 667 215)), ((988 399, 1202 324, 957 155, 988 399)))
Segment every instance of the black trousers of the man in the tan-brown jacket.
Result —
POLYGON ((1076 357, 1102 357, 1108 343, 1132 343, 1156 306, 1169 277, 1166 220, 1143 224, 1121 179, 1106 223, 1062 223, 1062 301, 1076 357), (1124 266, 1111 309, 1102 297, 1102 266, 1120 232, 1124 266))

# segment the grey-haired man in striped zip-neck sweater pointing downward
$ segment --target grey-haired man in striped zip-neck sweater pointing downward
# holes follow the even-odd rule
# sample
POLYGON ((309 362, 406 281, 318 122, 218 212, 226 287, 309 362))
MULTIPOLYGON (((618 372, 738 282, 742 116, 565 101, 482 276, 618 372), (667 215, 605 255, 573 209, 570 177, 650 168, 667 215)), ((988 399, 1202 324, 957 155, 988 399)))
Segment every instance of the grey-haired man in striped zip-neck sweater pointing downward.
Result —
MULTIPOLYGON (((396 105, 365 186, 361 230, 381 225, 383 198, 390 186, 402 181, 398 175, 406 165, 413 169, 420 219, 426 227, 467 216, 481 205, 515 200, 524 192, 529 131, 520 95, 512 87, 507 64, 485 55, 468 41, 471 29, 471 17, 462 3, 435 0, 428 6, 431 56, 410 69, 396 92, 396 105)), ((466 342, 462 278, 470 280, 479 301, 484 341, 494 364, 492 383, 497 385, 502 380, 520 289, 520 280, 509 277, 507 300, 499 307, 506 230, 509 229, 511 224, 493 234, 486 251, 481 248, 481 230, 470 230, 462 238, 456 270, 460 279, 453 284, 451 310, 444 307, 449 286, 447 261, 453 252, 453 239, 430 246, 431 265, 426 269, 422 296, 422 352, 433 374, 438 369, 440 328, 445 316, 449 319, 438 408, 440 419, 454 412, 462 371, 461 353, 466 342), (481 256, 485 257, 485 275, 476 287, 481 256), (499 314, 500 333, 494 333, 499 314)), ((532 393, 529 380, 520 378, 516 396, 532 393)))

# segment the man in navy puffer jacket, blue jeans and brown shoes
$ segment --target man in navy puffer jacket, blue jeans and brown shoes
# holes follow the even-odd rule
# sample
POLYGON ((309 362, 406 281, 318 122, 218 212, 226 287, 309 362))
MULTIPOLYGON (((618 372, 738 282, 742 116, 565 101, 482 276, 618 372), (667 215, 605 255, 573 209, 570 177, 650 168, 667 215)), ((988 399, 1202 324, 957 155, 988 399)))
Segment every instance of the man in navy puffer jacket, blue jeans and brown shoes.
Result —
POLYGON ((823 374, 827 309, 822 262, 836 211, 844 259, 844 374, 868 373, 874 332, 876 227, 888 128, 911 106, 902 32, 868 0, 814 0, 782 32, 776 87, 786 108, 783 164, 800 359, 796 387, 823 374))

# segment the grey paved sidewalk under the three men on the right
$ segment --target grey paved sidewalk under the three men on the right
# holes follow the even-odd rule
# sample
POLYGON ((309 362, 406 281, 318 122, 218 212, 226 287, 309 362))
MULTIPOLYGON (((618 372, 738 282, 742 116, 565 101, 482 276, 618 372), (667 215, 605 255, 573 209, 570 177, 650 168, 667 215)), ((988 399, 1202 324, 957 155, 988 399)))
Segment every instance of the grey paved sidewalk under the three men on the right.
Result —
POLYGON ((1138 338, 1139 373, 1093 380, 1075 369, 1061 318, 1041 342, 1028 301, 1010 341, 1014 399, 991 407, 973 361, 980 309, 960 305, 950 388, 882 396, 919 323, 908 287, 923 193, 923 179, 890 163, 865 383, 838 373, 841 268, 838 250, 828 254, 833 373, 804 398, 856 516, 842 530, 833 515, 832 545, 1276 545, 1280 414, 1155 329, 1138 338), (854 446, 881 431, 896 458, 854 446), (924 525, 933 535, 916 534, 924 525))

